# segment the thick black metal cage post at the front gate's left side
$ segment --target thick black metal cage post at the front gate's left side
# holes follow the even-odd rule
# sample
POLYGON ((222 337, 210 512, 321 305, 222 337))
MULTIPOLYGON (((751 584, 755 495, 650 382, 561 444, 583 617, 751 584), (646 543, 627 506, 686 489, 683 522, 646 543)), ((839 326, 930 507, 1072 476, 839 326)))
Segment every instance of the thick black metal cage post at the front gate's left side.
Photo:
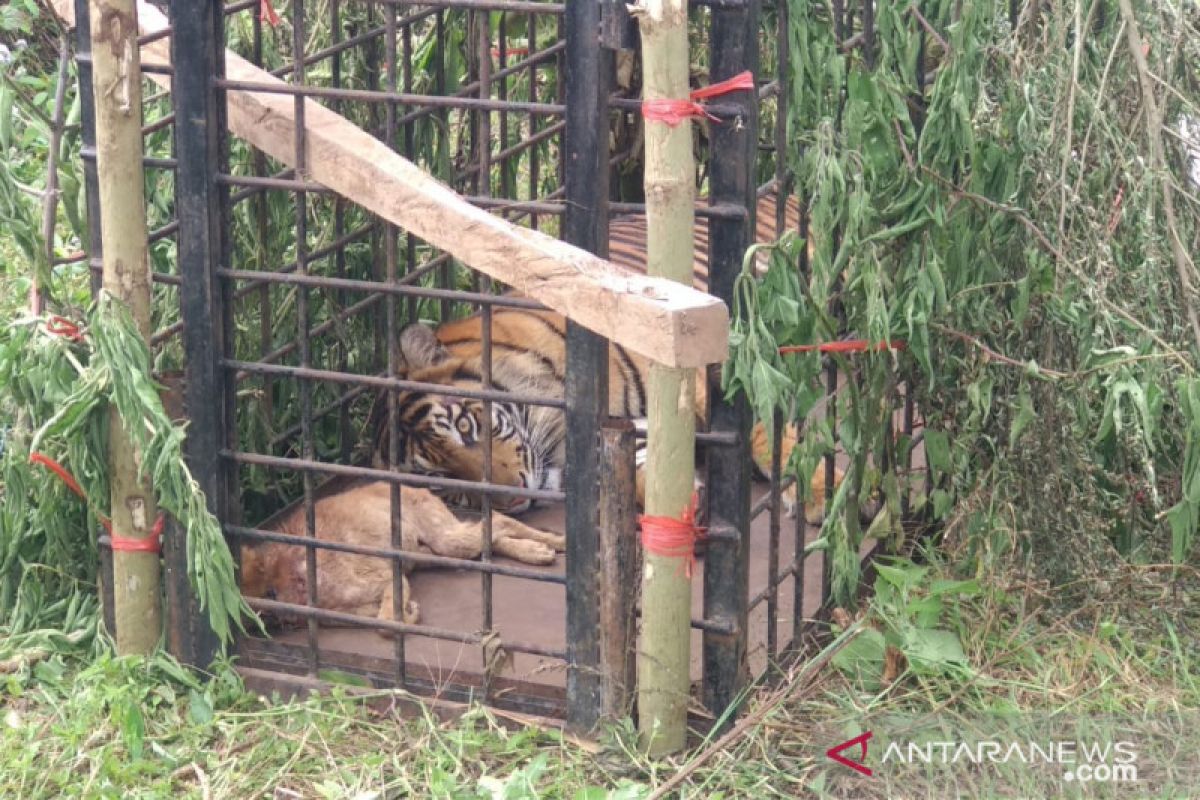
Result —
MULTIPOLYGON (((221 162, 224 114, 214 88, 215 78, 224 67, 223 20, 220 2, 176 4, 172 13, 172 59, 178 68, 172 98, 175 119, 190 121, 175 126, 179 161, 175 209, 182 277, 179 306, 186 356, 185 402, 192 421, 187 428, 186 453, 188 468, 208 498, 209 510, 224 523, 228 521, 228 475, 220 453, 226 445, 229 420, 227 405, 214 402, 226 395, 221 359, 229 344, 223 325, 229 299, 217 278, 223 192, 217 186, 216 173, 221 162)), ((187 581, 186 536, 187 531, 175 525, 163 539, 168 644, 172 654, 184 663, 208 667, 216 655, 217 640, 187 581)))

